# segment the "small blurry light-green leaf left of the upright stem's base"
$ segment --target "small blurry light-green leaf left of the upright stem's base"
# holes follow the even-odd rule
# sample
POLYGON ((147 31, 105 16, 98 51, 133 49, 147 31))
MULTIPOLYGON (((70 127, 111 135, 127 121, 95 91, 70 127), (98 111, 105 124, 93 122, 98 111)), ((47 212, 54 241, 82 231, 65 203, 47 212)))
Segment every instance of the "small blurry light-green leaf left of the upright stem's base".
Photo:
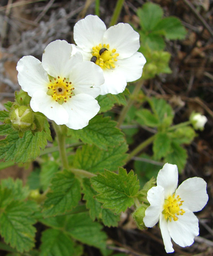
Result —
POLYGON ((45 161, 41 164, 40 181, 43 190, 46 190, 52 178, 59 171, 59 165, 56 161, 45 161))

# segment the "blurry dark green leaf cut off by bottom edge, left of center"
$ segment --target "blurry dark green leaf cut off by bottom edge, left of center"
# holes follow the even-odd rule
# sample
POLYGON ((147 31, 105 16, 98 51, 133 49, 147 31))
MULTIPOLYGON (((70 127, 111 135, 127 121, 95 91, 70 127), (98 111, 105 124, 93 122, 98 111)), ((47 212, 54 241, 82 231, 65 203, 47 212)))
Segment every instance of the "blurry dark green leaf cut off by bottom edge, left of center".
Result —
POLYGON ((75 255, 74 242, 63 231, 47 229, 42 233, 40 256, 70 256, 75 255))

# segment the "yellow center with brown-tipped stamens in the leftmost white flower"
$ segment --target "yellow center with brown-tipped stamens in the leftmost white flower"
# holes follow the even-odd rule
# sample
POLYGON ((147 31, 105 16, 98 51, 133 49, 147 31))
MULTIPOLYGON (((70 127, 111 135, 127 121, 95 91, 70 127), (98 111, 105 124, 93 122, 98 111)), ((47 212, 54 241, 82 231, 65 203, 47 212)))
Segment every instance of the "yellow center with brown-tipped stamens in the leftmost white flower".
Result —
POLYGON ((53 100, 57 101, 58 104, 63 104, 67 102, 69 98, 74 95, 75 88, 72 87, 71 82, 68 81, 68 78, 53 78, 49 80, 47 95, 52 96, 53 100))

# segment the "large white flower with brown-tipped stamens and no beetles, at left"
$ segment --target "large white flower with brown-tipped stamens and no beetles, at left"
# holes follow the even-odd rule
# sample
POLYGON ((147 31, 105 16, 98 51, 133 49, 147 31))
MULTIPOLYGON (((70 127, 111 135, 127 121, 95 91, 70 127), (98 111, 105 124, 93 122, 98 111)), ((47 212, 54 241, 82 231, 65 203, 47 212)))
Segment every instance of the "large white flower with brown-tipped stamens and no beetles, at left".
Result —
POLYGON ((94 98, 104 83, 103 72, 81 53, 71 56, 72 45, 56 40, 44 50, 42 61, 24 56, 18 61, 18 82, 32 97, 34 112, 45 114, 58 125, 82 129, 99 111, 94 98))

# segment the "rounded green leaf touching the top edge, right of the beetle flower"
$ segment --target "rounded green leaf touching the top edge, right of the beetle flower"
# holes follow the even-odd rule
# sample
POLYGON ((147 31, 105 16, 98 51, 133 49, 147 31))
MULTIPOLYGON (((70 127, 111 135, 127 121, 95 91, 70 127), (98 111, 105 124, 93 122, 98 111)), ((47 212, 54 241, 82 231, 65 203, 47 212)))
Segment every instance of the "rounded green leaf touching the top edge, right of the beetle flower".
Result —
POLYGON ((163 17, 163 9, 157 4, 146 3, 142 8, 138 8, 137 15, 142 29, 151 31, 163 17))

